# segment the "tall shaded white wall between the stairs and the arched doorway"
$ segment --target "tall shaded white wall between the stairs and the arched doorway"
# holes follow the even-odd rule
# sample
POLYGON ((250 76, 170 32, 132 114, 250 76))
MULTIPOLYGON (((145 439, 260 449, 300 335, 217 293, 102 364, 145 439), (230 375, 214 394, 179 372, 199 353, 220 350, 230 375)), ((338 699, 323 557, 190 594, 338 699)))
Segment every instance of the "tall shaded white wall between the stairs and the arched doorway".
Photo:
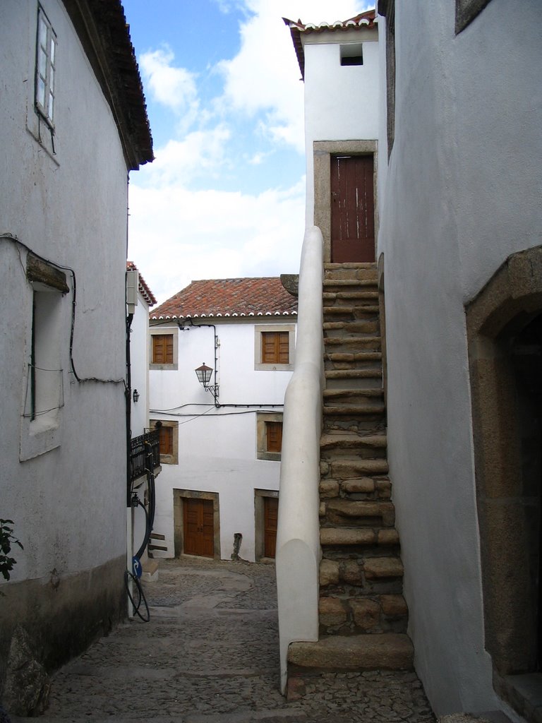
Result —
POLYGON ((437 714, 502 707, 484 649, 464 304, 541 243, 542 8, 525 1, 517 22, 510 9, 492 0, 456 37, 454 3, 396 4, 388 168, 380 121, 390 474, 416 669, 437 714))

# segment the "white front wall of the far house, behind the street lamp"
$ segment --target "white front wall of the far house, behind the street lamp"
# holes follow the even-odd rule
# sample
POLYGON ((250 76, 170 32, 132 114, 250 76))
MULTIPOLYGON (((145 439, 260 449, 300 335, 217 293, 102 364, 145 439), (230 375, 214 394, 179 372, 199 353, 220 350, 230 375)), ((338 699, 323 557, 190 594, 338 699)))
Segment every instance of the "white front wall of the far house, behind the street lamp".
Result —
MULTIPOLYGON (((257 412, 283 410, 291 371, 254 369, 254 322, 199 321, 216 325, 219 401, 224 406, 215 408, 194 372, 202 362, 214 366, 213 329, 179 331, 178 369, 150 369, 150 419, 178 422, 178 465, 163 464, 156 482, 155 532, 165 535, 160 544, 168 552, 155 556, 173 557, 173 490, 188 489, 219 495, 220 557, 230 559, 233 535, 240 532, 240 555, 253 561, 254 490, 278 490, 280 474, 280 462, 257 459, 257 412)), ((282 328, 295 325, 296 317, 267 316, 262 322, 282 328)), ((158 329, 168 333, 168 326, 158 329)))

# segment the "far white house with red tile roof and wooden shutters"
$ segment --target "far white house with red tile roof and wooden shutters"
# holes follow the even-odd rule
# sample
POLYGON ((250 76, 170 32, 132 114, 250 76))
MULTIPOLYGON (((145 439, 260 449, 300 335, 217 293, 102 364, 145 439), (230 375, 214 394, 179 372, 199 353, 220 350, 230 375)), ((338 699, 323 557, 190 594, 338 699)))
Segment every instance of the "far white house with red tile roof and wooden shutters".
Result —
POLYGON ((275 556, 284 392, 297 300, 279 278, 193 281, 150 320, 160 429, 155 557, 275 556), (207 367, 207 388, 195 370, 207 367))

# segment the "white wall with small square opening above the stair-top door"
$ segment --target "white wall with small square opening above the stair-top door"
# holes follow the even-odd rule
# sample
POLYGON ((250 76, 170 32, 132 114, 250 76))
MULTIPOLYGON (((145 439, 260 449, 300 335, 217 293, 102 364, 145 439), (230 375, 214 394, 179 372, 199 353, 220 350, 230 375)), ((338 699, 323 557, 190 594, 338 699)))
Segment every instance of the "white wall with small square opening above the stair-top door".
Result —
POLYGON ((379 51, 377 30, 365 27, 302 34, 301 38, 305 54, 306 226, 309 227, 314 223, 313 142, 374 140, 378 136, 379 51), (348 43, 363 43, 363 65, 341 66, 340 46, 348 43))

